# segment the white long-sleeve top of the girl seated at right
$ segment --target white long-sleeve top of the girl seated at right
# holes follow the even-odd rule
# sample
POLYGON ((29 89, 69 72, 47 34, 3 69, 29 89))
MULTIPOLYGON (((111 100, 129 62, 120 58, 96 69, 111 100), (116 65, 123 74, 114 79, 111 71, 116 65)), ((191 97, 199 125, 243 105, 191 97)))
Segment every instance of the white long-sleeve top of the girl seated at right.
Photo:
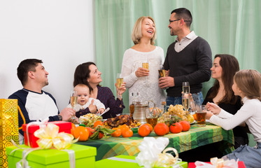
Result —
POLYGON ((244 105, 236 114, 232 115, 222 109, 218 116, 211 116, 209 121, 223 127, 225 130, 231 130, 246 122, 254 140, 261 142, 261 102, 258 99, 248 99, 246 97, 242 101, 244 105))

